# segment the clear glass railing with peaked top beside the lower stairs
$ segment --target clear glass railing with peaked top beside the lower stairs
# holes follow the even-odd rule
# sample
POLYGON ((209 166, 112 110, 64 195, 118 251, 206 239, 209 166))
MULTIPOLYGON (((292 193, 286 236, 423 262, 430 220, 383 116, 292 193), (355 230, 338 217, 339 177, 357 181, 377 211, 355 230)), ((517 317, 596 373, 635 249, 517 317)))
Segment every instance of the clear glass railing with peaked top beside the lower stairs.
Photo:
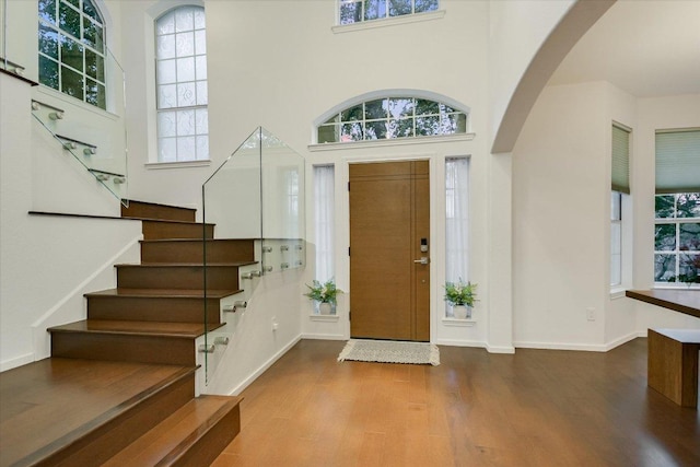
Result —
MULTIPOLYGON (((237 240, 253 255, 238 261, 243 291, 231 299, 234 306, 246 303, 266 276, 304 267, 304 159, 260 127, 202 185, 203 222, 217 225, 215 238, 203 242, 205 284, 213 268, 232 257, 218 242, 237 240)), ((206 295, 213 293, 205 289, 206 295)), ((205 328, 211 329, 206 310, 210 302, 205 303, 205 328)), ((205 347, 212 342, 205 335, 205 347)), ((217 360, 203 355, 208 382, 217 360)))

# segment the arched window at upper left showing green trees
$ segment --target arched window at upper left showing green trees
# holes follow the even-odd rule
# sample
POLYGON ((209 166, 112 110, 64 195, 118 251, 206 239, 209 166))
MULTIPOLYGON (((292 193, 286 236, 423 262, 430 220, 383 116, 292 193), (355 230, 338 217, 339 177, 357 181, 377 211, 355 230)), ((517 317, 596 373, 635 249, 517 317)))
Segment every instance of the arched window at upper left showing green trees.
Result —
POLYGON ((91 0, 39 0, 39 83, 106 108, 105 26, 91 0))

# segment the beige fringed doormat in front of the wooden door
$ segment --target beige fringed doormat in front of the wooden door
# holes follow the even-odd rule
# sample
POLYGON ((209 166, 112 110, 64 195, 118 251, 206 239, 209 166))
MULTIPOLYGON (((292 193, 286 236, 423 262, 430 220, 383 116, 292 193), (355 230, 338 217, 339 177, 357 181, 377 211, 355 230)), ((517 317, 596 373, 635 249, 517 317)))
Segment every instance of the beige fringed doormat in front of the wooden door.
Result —
POLYGON ((350 339, 338 355, 339 362, 346 360, 439 365, 440 350, 428 342, 350 339))

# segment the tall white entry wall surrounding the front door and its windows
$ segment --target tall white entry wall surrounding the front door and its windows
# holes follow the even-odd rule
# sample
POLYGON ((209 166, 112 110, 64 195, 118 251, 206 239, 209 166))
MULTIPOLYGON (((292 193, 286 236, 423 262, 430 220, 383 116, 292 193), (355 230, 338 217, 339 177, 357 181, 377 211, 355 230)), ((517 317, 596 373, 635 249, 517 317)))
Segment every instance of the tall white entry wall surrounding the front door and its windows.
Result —
MULTIPOLYGON (((129 70, 127 105, 132 124, 130 176, 133 197, 179 205, 199 203, 200 184, 257 126, 264 126, 307 161, 306 199, 311 199, 311 166, 335 163, 338 219, 338 285, 348 290, 348 196, 342 190, 352 161, 430 159, 432 186, 432 314, 436 341, 479 345, 487 341, 489 300, 488 264, 488 40, 489 3, 444 1, 442 19, 353 32, 334 33, 335 2, 236 1, 207 2, 210 148, 208 167, 145 168, 154 144, 153 118, 149 115, 152 70, 151 23, 166 3, 125 2, 129 35, 124 48, 129 70), (303 24, 303 27, 300 27, 303 24), (387 51, 388 44, 388 51, 387 51), (467 56, 467 60, 450 57, 467 56), (420 63, 417 66, 416 63, 420 63), (471 109, 472 141, 376 147, 339 151, 310 151, 313 122, 330 108, 359 95, 390 89, 420 90, 446 96, 471 109), (477 326, 469 329, 443 326, 444 157, 471 157, 471 280, 483 295, 477 308, 477 326)), ((152 101, 151 101, 152 104, 152 101)), ((510 179, 506 179, 510 183, 510 179)), ((235 201, 232 203, 235 206, 235 201)), ((310 208, 312 205, 306 202, 310 208)), ((307 240, 313 254, 313 213, 307 215, 307 240)), ((312 257, 308 256, 307 259, 312 257)), ((307 269, 304 282, 311 282, 307 269)), ((337 323, 308 320, 310 304, 299 290, 302 332, 306 337, 347 337, 348 296, 339 306, 337 323)))

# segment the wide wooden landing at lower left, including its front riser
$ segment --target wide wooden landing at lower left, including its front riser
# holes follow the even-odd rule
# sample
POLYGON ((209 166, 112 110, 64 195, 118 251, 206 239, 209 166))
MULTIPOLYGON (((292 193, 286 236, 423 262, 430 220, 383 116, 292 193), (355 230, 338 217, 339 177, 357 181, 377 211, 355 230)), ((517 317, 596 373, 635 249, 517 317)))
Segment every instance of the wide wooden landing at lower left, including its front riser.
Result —
POLYGON ((0 373, 0 466, 101 465, 192 400, 195 371, 50 358, 0 373))

